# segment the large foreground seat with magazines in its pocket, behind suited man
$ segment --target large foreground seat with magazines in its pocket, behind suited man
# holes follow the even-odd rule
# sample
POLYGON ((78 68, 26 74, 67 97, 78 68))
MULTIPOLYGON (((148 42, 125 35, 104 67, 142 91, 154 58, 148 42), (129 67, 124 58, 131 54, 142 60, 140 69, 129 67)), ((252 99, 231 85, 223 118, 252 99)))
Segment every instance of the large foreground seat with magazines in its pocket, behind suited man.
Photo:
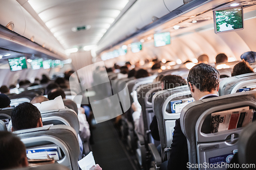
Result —
MULTIPOLYGON (((203 164, 204 162, 220 164, 221 162, 219 161, 229 163, 233 154, 237 152, 237 141, 244 129, 241 123, 244 123, 244 120, 248 122, 248 120, 252 119, 249 112, 248 119, 248 117, 245 117, 247 112, 240 111, 242 109, 247 110, 247 108, 256 109, 255 91, 203 99, 185 106, 181 111, 180 123, 181 130, 187 138, 189 162, 191 164, 203 164), (231 116, 232 121, 230 120, 230 122, 232 123, 222 126, 221 128, 224 127, 224 129, 220 131, 221 128, 218 123, 220 123, 221 119, 219 118, 222 118, 220 116, 223 113, 227 114, 228 110, 230 110, 229 113, 236 113, 236 115, 226 115, 226 117, 231 116), (211 122, 214 121, 214 119, 212 119, 213 117, 211 118, 211 114, 220 111, 224 112, 219 115, 217 113, 215 116, 216 124, 211 125, 211 122), (220 120, 219 122, 217 122, 218 119, 220 120), (242 122, 240 122, 240 120, 242 120, 242 122), (239 124, 241 126, 238 126, 239 124), (237 126, 239 128, 237 128, 237 126), (229 130, 225 130, 227 127, 229 130), (211 133, 216 130, 216 133, 211 133)), ((252 110, 251 112, 253 115, 254 111, 252 110)), ((190 167, 189 169, 197 168, 190 167)), ((223 166, 223 168, 219 169, 226 169, 226 167, 223 166)))

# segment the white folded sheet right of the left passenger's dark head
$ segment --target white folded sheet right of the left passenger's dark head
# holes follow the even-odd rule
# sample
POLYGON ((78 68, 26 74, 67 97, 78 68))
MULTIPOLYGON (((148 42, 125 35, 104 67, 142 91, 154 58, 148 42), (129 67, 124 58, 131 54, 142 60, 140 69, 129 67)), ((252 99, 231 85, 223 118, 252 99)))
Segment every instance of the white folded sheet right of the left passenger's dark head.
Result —
POLYGON ((63 103, 61 96, 57 96, 57 98, 55 98, 54 100, 50 100, 42 103, 35 103, 33 105, 36 106, 41 113, 46 112, 48 110, 65 109, 65 105, 63 103))

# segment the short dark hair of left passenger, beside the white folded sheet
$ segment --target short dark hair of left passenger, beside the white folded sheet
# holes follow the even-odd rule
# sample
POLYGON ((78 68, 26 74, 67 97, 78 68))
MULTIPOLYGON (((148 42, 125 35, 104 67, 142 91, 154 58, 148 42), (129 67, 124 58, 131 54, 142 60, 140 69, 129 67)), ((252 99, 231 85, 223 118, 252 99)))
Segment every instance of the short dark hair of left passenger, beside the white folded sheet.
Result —
POLYGON ((25 102, 16 106, 11 112, 14 131, 36 128, 41 113, 31 103, 25 102))

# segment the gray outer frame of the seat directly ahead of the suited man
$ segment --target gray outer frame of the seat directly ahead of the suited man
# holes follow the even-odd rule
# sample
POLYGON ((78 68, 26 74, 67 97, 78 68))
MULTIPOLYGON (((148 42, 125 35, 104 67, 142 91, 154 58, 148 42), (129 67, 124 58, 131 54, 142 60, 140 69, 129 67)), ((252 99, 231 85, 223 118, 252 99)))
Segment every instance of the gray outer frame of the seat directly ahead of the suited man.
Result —
MULTIPOLYGON (((154 96, 153 96, 153 110, 154 113, 156 115, 157 118, 157 122, 158 122, 158 129, 159 129, 159 135, 160 135, 160 143, 161 143, 161 149, 162 149, 162 159, 164 160, 164 149, 166 149, 167 147, 167 141, 166 141, 166 134, 165 134, 165 127, 164 127, 164 118, 163 118, 163 104, 165 103, 166 99, 175 94, 175 93, 179 93, 182 91, 187 91, 189 90, 188 86, 179 86, 173 89, 167 89, 167 90, 162 90, 157 92, 154 96)), ((190 96, 189 96, 190 97, 190 96)), ((174 98, 173 100, 181 100, 181 99, 185 99, 187 98, 187 96, 182 96, 182 97, 178 97, 178 98, 174 98)))

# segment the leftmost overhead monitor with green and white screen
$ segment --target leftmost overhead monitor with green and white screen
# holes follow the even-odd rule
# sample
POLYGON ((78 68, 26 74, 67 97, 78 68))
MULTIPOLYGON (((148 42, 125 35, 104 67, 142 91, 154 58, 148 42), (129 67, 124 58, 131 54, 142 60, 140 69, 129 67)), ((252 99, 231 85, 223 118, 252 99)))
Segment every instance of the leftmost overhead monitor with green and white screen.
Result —
POLYGON ((25 56, 18 57, 18 58, 11 58, 11 59, 8 59, 8 61, 9 61, 11 71, 18 71, 18 70, 28 68, 25 56))

